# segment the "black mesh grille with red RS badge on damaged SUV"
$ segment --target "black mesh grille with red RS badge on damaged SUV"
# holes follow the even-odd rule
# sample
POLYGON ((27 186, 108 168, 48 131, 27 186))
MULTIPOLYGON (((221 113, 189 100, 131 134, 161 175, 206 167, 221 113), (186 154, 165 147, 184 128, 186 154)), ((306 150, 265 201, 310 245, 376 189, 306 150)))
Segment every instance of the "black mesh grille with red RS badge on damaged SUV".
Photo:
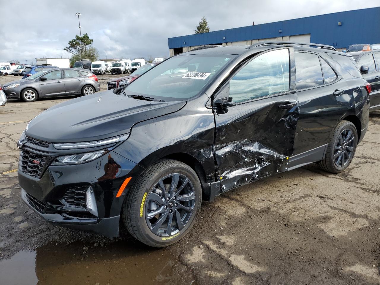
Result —
POLYGON ((47 161, 47 156, 36 154, 29 150, 20 151, 20 170, 35 178, 40 178, 47 161))

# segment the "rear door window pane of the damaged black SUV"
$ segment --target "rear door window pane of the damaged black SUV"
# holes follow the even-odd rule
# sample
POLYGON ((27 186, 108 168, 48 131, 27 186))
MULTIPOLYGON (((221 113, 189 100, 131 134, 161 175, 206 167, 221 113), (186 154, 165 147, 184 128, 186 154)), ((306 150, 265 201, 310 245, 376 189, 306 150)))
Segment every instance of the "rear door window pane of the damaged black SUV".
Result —
POLYGON ((317 54, 295 52, 296 88, 304 89, 323 85, 323 75, 317 54))

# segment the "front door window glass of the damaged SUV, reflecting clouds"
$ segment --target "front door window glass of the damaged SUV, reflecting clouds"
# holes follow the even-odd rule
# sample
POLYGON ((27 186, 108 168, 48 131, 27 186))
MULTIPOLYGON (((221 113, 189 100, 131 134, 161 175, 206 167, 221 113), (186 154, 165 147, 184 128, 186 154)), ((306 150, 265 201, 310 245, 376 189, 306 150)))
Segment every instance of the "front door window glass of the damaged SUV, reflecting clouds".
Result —
POLYGON ((289 50, 266 52, 252 59, 230 80, 235 102, 289 90, 289 50))

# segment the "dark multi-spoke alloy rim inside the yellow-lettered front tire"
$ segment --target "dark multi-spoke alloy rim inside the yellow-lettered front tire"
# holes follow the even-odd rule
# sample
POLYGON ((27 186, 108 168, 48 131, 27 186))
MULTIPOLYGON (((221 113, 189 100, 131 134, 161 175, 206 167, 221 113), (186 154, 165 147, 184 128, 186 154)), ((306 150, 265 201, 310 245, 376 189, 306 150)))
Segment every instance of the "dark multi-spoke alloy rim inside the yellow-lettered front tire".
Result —
POLYGON ((182 230, 194 212, 195 191, 183 174, 174 173, 161 178, 146 199, 145 220, 158 236, 171 236, 182 230))

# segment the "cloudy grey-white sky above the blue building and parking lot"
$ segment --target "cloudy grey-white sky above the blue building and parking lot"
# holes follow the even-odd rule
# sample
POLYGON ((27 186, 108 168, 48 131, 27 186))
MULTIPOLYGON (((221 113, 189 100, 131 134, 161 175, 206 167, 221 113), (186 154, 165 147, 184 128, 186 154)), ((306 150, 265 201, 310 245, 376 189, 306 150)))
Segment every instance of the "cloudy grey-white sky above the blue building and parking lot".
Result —
MULTIPOLYGON (((69 57, 67 42, 88 33, 105 58, 163 57, 168 38, 189 35, 202 16, 211 31, 379 6, 379 0, 0 0, 0 62, 69 57), (17 11, 17 13, 16 13, 17 11), (14 14, 14 16, 12 16, 14 14)), ((353 19, 356 21, 357 19, 353 19)), ((363 20, 363 19, 360 19, 363 20)))

